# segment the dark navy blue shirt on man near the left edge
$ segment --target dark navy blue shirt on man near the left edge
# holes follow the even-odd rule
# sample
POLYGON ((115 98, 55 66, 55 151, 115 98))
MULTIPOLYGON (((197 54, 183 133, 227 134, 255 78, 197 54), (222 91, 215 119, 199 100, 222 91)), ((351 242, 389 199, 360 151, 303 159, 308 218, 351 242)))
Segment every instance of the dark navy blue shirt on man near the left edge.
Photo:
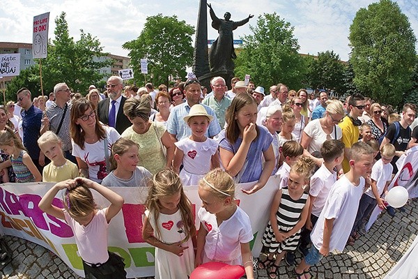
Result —
POLYGON ((39 160, 38 139, 40 137, 40 124, 42 110, 33 105, 29 110, 22 110, 23 145, 28 150, 32 160, 39 160))

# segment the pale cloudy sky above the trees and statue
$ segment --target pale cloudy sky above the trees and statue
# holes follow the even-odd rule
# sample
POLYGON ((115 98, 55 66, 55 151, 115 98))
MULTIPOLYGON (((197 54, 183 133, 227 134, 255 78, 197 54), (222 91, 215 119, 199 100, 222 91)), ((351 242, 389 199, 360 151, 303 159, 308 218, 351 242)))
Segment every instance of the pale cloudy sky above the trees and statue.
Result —
MULTIPOLYGON (((50 12, 49 38, 54 38, 55 18, 64 11, 70 36, 79 39, 80 31, 96 36, 104 52, 127 56, 123 43, 139 36, 151 15, 177 15, 179 20, 196 27, 199 10, 198 0, 1 0, 0 41, 31 43, 33 16, 50 12)), ((350 24, 359 8, 366 8, 371 0, 208 0, 216 15, 222 18, 226 11, 231 20, 255 15, 243 27, 234 31, 234 39, 251 34, 249 26, 256 26, 256 18, 264 13, 276 12, 295 30, 293 36, 300 45, 300 53, 318 54, 333 50, 343 61, 350 53, 348 36, 350 24)), ((418 1, 396 1, 408 17, 418 38, 418 1)), ((194 36, 193 36, 194 37, 194 36)), ((210 26, 208 15, 208 39, 216 39, 217 31, 210 26)), ((155 47, 164 42, 155 38, 155 47)))

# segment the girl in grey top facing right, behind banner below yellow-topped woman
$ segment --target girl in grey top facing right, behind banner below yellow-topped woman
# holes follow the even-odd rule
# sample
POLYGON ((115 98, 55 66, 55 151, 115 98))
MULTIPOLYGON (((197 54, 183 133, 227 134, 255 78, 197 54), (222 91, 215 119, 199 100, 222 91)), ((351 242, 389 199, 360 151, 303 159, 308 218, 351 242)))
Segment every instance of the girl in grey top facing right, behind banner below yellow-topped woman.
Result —
POLYGON ((139 145, 121 137, 111 146, 110 167, 112 171, 104 177, 102 186, 145 187, 153 175, 140 167, 139 145))

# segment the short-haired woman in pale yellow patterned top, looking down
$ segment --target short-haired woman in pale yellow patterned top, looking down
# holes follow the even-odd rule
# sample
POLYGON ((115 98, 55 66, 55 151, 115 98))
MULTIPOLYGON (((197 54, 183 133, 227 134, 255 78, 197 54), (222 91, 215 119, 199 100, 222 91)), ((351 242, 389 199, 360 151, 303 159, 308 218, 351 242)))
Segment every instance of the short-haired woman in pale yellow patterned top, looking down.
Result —
POLYGON ((156 174, 162 169, 171 168, 176 146, 162 123, 150 121, 150 112, 150 102, 146 98, 127 99, 123 113, 132 126, 122 133, 122 137, 139 144, 138 165, 156 174))

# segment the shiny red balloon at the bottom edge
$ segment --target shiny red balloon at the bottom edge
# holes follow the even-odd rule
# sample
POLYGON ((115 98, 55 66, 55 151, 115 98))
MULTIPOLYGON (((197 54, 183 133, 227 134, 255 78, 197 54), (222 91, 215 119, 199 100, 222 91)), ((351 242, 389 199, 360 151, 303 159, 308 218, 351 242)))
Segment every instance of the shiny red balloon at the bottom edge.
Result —
POLYGON ((190 275, 190 279, 240 279, 244 274, 244 266, 231 266, 223 262, 207 262, 197 266, 190 275))

